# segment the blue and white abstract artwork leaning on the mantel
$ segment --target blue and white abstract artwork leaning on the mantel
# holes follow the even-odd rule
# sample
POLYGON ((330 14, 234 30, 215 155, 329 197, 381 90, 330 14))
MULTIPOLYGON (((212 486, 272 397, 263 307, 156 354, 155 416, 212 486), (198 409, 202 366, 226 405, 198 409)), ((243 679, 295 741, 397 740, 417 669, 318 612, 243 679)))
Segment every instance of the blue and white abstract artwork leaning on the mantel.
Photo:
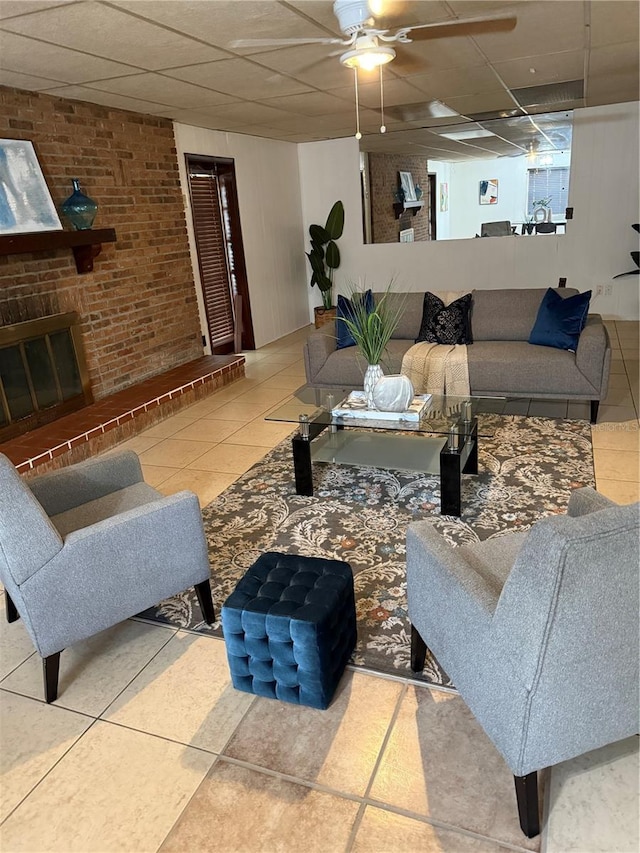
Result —
POLYGON ((33 143, 0 139, 0 234, 61 230, 33 143))

